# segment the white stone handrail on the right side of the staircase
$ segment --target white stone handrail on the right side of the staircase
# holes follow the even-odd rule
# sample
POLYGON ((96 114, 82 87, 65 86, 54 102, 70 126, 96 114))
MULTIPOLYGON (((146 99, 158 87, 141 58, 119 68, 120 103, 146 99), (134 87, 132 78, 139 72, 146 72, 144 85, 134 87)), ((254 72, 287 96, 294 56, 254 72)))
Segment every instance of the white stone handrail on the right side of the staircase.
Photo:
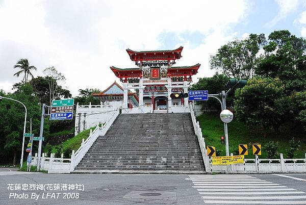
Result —
POLYGON ((196 121, 196 118, 195 118, 195 115, 194 115, 193 108, 192 108, 191 104, 189 104, 189 109, 190 109, 192 124, 193 124, 193 127, 194 127, 194 132, 195 132, 195 135, 197 136, 197 139, 198 139, 198 142, 199 142, 199 145, 200 145, 200 150, 201 150, 201 153, 202 153, 202 158, 203 158, 203 161, 204 161, 205 169, 206 169, 207 172, 211 172, 209 157, 207 156, 206 144, 205 144, 205 140, 204 140, 203 135, 202 135, 202 129, 199 125, 199 122, 196 121))

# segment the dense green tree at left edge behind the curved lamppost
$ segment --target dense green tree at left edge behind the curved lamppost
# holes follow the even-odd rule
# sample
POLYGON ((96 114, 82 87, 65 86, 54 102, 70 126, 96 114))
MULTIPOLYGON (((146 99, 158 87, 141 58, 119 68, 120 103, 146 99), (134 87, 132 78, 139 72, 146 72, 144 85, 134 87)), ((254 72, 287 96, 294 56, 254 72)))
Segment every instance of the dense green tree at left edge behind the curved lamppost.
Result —
MULTIPOLYGON (((27 107, 27 119, 33 119, 33 133, 38 136, 41 110, 39 99, 33 95, 32 86, 25 83, 14 93, 6 94, 2 91, 0 94, 19 100, 27 107)), ((2 163, 16 163, 22 147, 23 122, 24 107, 21 104, 9 99, 0 101, 0 157, 5 159, 2 163)), ((48 134, 48 127, 48 124, 45 124, 44 134, 48 134)), ((26 132, 29 132, 29 124, 27 124, 26 132)))

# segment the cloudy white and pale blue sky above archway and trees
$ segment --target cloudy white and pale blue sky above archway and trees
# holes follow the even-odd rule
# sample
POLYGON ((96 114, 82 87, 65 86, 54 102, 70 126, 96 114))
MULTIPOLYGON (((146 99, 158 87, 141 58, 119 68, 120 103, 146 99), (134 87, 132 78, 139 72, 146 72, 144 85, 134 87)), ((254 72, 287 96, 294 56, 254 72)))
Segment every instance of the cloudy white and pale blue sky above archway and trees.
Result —
MULTIPOLYGON (((54 66, 78 89, 104 90, 116 79, 110 66, 135 67, 125 49, 184 46, 176 66, 200 63, 197 77, 212 76, 209 57, 250 33, 289 30, 306 38, 306 1, 0 0, 0 89, 11 92, 18 59, 54 66)), ((195 78, 195 79, 196 79, 195 78)))

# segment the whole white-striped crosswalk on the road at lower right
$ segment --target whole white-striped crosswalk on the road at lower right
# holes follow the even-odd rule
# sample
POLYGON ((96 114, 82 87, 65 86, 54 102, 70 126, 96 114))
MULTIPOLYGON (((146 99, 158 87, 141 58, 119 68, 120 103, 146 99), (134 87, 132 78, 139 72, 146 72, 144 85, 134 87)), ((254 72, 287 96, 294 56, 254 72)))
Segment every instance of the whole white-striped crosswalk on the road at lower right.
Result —
POLYGON ((205 203, 306 204, 305 192, 253 176, 190 175, 189 178, 205 203))

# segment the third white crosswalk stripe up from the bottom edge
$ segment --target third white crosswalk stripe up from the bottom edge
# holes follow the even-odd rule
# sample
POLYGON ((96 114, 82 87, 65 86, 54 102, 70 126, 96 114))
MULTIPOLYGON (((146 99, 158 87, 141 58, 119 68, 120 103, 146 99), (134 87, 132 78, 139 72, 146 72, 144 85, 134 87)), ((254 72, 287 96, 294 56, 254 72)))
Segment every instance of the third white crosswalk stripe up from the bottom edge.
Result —
MULTIPOLYGON (((259 190, 259 191, 265 191, 265 192, 243 192, 244 189, 234 189, 231 191, 239 191, 239 192, 209 192, 209 191, 228 191, 227 189, 222 190, 222 189, 212 189, 212 190, 207 190, 207 189, 198 189, 198 191, 207 191, 207 192, 199 192, 201 195, 259 195, 259 194, 305 194, 305 192, 302 191, 294 191, 295 189, 283 189, 283 190, 275 190, 275 189, 268 189, 268 190, 259 190), (273 192, 266 192, 266 191, 273 191, 273 192)), ((247 189, 245 191, 257 191, 257 190, 250 190, 247 189)))

